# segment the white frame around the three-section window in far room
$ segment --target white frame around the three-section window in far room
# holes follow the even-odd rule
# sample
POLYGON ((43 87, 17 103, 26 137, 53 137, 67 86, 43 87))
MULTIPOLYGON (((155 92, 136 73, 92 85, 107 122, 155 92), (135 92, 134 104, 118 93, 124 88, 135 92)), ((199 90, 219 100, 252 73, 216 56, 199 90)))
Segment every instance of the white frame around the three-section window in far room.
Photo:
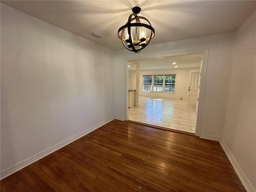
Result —
MULTIPOLYGON (((168 83, 169 84, 169 83, 168 83)), ((173 84, 173 83, 170 83, 173 84)), ((177 85, 177 73, 154 73, 154 74, 142 74, 142 92, 149 92, 149 93, 167 93, 167 94, 176 94, 176 85, 177 85), (152 83, 151 83, 151 91, 144 91, 144 76, 152 76, 152 83), (163 76, 163 90, 162 91, 154 91, 154 76, 163 76), (166 92, 165 91, 165 77, 166 76, 175 76, 175 83, 174 83, 174 92, 166 92)))

